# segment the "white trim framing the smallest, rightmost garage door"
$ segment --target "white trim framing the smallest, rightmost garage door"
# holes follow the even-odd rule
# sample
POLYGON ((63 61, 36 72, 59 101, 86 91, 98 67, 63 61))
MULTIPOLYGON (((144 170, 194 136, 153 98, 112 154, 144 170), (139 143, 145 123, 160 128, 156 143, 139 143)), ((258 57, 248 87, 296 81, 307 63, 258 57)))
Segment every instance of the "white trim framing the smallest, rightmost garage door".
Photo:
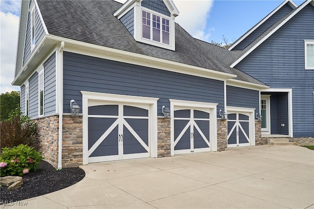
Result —
MULTIPOLYGON (((234 107, 227 106, 227 114, 230 113, 246 113, 249 115, 249 138, 250 138, 250 146, 255 146, 255 109, 256 108, 246 108, 246 107, 234 107)), ((228 143, 228 142, 227 142, 228 143)), ((230 146, 229 146, 230 147, 230 146)))

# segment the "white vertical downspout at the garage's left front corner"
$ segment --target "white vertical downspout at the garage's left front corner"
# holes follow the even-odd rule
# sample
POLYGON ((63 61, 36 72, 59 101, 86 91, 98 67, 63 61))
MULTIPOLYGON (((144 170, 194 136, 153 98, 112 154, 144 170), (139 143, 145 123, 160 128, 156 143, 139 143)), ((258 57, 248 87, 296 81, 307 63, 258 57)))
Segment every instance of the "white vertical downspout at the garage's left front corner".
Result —
POLYGON ((63 49, 64 42, 61 41, 61 46, 58 50, 58 74, 59 74, 59 88, 58 88, 58 109, 59 109, 59 144, 58 144, 58 169, 62 169, 62 130, 63 130, 63 49))

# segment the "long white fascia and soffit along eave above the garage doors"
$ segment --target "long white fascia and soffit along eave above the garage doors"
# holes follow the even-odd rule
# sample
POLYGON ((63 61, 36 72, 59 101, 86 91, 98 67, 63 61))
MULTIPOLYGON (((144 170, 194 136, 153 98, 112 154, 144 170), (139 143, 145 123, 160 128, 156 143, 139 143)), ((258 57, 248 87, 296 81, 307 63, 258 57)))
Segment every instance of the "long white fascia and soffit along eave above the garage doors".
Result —
POLYGON ((72 39, 62 38, 54 35, 46 35, 47 38, 54 40, 55 42, 64 41, 64 51, 79 53, 88 56, 94 56, 113 61, 119 61, 134 65, 140 65, 145 67, 157 68, 161 70, 182 73, 186 75, 198 76, 203 78, 211 78, 216 80, 225 80, 226 78, 235 78, 236 75, 223 73, 206 68, 187 65, 170 60, 160 59, 143 54, 126 52, 122 50, 112 49, 99 45, 89 44, 72 39))

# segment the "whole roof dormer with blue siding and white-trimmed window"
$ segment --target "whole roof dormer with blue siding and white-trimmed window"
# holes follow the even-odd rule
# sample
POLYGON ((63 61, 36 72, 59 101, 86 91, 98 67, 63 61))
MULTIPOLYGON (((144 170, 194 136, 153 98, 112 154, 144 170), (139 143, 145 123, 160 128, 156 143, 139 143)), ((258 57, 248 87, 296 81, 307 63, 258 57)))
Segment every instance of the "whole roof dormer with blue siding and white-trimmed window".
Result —
POLYGON ((136 41, 175 51, 179 11, 172 0, 128 0, 113 15, 136 41))

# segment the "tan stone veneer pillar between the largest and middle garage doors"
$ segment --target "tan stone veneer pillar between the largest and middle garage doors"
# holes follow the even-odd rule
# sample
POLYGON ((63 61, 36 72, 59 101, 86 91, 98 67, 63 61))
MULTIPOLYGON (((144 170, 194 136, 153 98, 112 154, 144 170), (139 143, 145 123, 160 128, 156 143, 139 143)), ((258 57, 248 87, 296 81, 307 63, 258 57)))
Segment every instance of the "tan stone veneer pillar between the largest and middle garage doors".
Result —
POLYGON ((171 156, 170 118, 157 119, 157 157, 171 156))

